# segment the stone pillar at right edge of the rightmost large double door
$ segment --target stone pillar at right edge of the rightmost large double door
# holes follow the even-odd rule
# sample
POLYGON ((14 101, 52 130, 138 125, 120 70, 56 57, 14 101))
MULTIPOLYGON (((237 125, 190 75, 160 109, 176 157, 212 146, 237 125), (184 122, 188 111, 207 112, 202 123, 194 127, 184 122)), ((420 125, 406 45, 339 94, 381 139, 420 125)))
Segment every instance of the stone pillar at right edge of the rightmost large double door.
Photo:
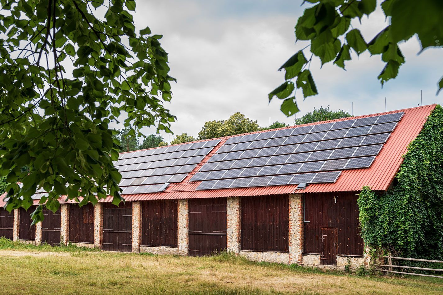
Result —
POLYGON ((240 252, 240 198, 226 198, 226 252, 240 252))

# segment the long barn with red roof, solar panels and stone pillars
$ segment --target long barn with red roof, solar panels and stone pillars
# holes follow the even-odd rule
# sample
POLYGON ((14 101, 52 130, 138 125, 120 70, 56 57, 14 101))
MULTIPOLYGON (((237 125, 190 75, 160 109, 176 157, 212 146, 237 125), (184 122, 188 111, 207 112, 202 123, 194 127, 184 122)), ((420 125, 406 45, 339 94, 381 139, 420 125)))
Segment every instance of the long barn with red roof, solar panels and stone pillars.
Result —
MULTIPOLYGON (((30 227, 0 210, 0 234, 109 251, 343 267, 367 264, 358 193, 386 191, 436 105, 121 153, 126 202, 60 198, 30 227)), ((45 194, 35 194, 35 204, 45 194)))

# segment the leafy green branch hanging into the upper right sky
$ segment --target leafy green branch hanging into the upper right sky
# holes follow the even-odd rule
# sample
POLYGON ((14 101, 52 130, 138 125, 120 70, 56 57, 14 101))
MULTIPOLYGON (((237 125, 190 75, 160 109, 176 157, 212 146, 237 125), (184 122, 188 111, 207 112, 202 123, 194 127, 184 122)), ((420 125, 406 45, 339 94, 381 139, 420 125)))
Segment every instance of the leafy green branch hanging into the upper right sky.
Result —
MULTIPOLYGON (((285 82, 269 93, 283 100, 281 111, 291 116, 299 109, 295 93, 301 88, 303 97, 318 94, 309 65, 313 56, 323 64, 334 64, 345 68, 345 61, 351 60, 351 49, 357 55, 368 50, 370 54, 381 54, 385 67, 378 75, 381 85, 396 78, 404 64, 404 56, 398 44, 416 35, 421 51, 429 47, 442 47, 443 1, 441 0, 385 0, 381 8, 389 19, 389 25, 377 33, 369 43, 358 29, 350 25, 352 19, 361 19, 377 7, 376 0, 306 0, 315 4, 305 9, 295 25, 296 40, 307 40, 308 46, 296 52, 279 70, 285 70, 285 82), (311 57, 305 54, 311 51, 311 57)), ((303 3, 304 3, 303 2, 303 3)), ((419 53, 420 53, 419 52, 419 53)), ((309 55, 308 55, 309 56, 309 55)), ((443 78, 438 82, 438 91, 443 88, 443 78)))

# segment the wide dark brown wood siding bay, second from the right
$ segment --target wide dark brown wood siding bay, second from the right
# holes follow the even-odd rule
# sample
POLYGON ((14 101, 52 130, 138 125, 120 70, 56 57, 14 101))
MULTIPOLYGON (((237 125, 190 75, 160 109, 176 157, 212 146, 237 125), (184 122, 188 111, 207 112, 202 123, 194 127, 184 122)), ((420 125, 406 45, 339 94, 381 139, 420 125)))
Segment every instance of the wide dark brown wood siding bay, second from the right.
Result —
POLYGON ((288 252, 288 195, 241 198, 241 250, 288 252))

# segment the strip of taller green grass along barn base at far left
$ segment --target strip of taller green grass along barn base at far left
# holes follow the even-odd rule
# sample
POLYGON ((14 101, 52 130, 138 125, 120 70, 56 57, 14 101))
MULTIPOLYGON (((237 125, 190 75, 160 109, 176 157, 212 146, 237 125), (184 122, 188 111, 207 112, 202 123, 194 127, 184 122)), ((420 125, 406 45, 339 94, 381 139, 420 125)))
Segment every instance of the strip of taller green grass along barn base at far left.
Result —
POLYGON ((100 251, 98 248, 78 247, 74 244, 51 246, 48 244, 32 245, 21 242, 14 242, 5 237, 0 237, 0 250, 20 250, 20 251, 42 251, 42 252, 78 252, 78 251, 100 251))

